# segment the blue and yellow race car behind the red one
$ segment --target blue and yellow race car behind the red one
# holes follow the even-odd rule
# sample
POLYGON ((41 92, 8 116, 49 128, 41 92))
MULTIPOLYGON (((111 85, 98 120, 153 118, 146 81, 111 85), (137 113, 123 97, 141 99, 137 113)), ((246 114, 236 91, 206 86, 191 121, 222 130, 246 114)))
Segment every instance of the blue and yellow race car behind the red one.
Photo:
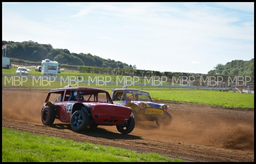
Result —
POLYGON ((116 105, 132 108, 131 116, 138 121, 156 121, 158 126, 169 126, 172 116, 166 104, 154 103, 148 92, 136 89, 113 89, 111 98, 116 105))

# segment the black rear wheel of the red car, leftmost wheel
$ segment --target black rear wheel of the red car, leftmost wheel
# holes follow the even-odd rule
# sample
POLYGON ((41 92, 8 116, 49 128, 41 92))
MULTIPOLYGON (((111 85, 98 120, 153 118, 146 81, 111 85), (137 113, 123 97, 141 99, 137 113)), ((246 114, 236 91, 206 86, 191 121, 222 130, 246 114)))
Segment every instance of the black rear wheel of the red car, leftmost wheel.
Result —
POLYGON ((44 125, 52 125, 55 120, 55 111, 49 106, 45 106, 41 113, 42 123, 44 125))

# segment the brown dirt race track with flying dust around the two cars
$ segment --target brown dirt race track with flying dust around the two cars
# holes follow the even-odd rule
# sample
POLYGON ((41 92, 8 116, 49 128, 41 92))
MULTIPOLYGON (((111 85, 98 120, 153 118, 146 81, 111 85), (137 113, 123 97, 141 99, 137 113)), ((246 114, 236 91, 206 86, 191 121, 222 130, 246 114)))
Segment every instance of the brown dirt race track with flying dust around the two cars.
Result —
POLYGON ((158 128, 155 122, 139 122, 127 135, 120 134, 115 126, 77 133, 57 119, 51 127, 42 125, 40 111, 46 94, 42 90, 3 90, 2 126, 137 152, 156 152, 185 161, 254 161, 254 110, 164 101, 172 115, 168 128, 158 128))

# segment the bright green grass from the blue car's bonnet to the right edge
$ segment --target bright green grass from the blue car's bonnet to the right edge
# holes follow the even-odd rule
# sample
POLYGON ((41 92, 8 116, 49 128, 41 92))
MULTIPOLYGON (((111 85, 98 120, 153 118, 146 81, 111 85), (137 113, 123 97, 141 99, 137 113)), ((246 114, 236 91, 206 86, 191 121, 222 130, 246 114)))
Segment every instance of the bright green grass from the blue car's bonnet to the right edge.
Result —
MULTIPOLYGON (((254 108, 254 94, 217 90, 151 90, 153 99, 211 104, 228 108, 254 108)), ((171 108, 171 107, 170 107, 171 108)))

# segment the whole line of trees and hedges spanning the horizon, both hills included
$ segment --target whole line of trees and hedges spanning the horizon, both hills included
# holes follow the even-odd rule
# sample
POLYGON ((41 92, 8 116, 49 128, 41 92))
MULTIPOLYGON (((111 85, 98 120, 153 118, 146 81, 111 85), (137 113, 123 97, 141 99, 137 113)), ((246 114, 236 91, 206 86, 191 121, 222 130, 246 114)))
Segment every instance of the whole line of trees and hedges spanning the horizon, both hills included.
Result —
MULTIPOLYGON (((160 72, 152 70, 136 69, 136 65, 128 65, 121 61, 103 59, 91 53, 70 53, 68 49, 52 48, 51 44, 39 44, 34 41, 2 41, 2 46, 7 44, 6 56, 11 58, 11 62, 41 65, 44 59, 58 61, 60 67, 77 68, 80 72, 95 72, 96 70, 113 70, 118 75, 132 73, 140 76, 194 76, 200 77, 206 74, 195 74, 186 72, 160 72), (95 68, 97 67, 97 68, 95 68)), ((233 60, 225 65, 217 64, 210 75, 254 75, 254 58, 250 61, 233 60)))

